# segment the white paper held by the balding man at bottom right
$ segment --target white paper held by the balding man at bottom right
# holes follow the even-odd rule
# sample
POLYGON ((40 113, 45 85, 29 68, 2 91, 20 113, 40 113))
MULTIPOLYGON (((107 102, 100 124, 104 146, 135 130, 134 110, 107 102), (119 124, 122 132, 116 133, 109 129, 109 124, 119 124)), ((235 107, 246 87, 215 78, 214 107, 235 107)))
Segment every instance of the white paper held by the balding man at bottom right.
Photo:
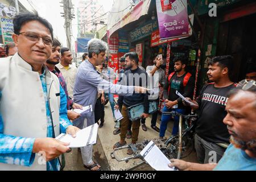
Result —
POLYGON ((156 171, 174 171, 174 168, 168 167, 168 164, 171 163, 170 160, 160 151, 154 142, 151 141, 148 143, 140 154, 156 171))

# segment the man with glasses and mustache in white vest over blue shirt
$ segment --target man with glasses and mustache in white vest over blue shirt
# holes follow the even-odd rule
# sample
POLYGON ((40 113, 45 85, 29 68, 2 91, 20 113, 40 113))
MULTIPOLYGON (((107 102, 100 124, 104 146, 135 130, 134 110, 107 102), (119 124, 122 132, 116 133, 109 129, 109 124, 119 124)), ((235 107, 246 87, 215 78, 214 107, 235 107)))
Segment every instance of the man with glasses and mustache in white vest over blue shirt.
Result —
POLYGON ((38 14, 18 14, 14 20, 14 56, 0 60, 0 170, 58 171, 58 158, 79 129, 67 117, 67 99, 60 81, 46 68, 53 28, 38 14))

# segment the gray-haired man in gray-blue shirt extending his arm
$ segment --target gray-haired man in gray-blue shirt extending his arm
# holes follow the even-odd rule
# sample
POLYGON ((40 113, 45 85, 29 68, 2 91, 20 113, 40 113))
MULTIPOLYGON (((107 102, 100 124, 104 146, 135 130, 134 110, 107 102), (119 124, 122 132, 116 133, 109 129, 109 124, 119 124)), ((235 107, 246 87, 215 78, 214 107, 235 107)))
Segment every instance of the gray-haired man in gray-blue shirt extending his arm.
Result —
MULTIPOLYGON (((98 90, 104 90, 105 93, 114 93, 123 96, 132 96, 133 93, 145 93, 146 89, 139 86, 114 85, 104 80, 100 73, 96 71, 96 65, 102 64, 106 55, 106 43, 99 39, 92 39, 88 43, 88 60, 81 63, 76 75, 74 101, 83 106, 92 105, 93 108, 97 101, 98 90)), ((73 124, 80 129, 93 125, 94 111, 81 114, 79 119, 73 121, 73 124)), ((84 167, 90 171, 100 171, 101 166, 92 160, 93 146, 81 148, 84 167)))

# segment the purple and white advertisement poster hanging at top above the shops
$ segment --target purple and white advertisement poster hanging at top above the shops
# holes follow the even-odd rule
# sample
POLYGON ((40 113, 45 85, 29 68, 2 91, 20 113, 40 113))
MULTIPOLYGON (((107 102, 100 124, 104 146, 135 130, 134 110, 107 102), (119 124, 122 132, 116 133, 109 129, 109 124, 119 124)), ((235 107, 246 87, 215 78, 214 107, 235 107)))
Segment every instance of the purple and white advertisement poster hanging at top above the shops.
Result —
POLYGON ((186 0, 156 0, 156 11, 158 13, 160 40, 189 35, 186 0))

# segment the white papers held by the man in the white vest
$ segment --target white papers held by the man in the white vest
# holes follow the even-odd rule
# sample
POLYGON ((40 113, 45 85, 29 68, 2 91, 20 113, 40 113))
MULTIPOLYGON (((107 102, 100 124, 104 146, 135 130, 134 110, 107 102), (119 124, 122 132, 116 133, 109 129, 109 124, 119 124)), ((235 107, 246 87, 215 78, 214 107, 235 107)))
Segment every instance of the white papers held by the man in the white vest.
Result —
POLYGON ((97 141, 98 134, 98 124, 91 125, 82 129, 76 133, 76 138, 73 138, 69 134, 60 134, 56 137, 56 140, 61 142, 70 143, 69 148, 79 148, 89 146, 90 144, 95 144, 97 141))

